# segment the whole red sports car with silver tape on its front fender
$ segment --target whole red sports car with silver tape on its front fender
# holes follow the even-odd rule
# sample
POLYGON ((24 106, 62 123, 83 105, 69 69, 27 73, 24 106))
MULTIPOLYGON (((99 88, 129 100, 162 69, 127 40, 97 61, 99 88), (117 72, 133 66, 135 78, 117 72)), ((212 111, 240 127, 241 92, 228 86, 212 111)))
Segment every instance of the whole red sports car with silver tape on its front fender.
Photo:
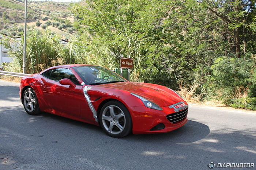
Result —
POLYGON ((188 104, 165 86, 129 82, 93 65, 60 65, 20 81, 27 113, 48 112, 101 126, 109 136, 163 133, 187 123, 188 104))

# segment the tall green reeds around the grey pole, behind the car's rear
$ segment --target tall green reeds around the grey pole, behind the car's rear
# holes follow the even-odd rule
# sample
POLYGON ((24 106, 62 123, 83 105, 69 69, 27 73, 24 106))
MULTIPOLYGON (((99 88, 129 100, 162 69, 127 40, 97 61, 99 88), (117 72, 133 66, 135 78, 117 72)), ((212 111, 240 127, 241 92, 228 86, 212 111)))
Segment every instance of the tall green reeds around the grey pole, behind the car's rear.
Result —
MULTIPOLYGON (((2 43, 9 49, 10 56, 17 59, 19 68, 22 68, 23 39, 17 40, 5 37, 2 43)), ((74 44, 72 42, 64 47, 60 43, 60 37, 49 30, 43 33, 39 30, 29 30, 27 32, 26 72, 33 74, 57 64, 75 63, 75 53, 73 49, 74 44)))

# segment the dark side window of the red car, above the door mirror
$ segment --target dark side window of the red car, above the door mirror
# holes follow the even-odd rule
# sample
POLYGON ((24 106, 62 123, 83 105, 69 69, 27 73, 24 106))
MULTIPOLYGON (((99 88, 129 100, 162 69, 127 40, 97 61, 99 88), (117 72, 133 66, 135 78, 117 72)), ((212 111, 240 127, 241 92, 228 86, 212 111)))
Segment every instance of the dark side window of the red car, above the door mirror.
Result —
POLYGON ((80 85, 75 75, 69 69, 65 69, 65 68, 52 69, 52 70, 48 70, 42 75, 54 81, 60 81, 63 78, 68 78, 75 85, 80 85))

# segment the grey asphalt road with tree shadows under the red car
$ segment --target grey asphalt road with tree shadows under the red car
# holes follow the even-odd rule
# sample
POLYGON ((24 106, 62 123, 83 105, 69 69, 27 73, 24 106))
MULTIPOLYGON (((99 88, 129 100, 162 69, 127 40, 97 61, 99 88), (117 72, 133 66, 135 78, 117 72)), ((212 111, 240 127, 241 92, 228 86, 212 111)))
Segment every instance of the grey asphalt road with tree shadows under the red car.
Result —
POLYGON ((210 162, 256 164, 255 112, 192 105, 188 119, 166 134, 111 138, 95 125, 48 113, 28 115, 19 83, 0 80, 0 169, 198 170, 210 169, 210 162))

